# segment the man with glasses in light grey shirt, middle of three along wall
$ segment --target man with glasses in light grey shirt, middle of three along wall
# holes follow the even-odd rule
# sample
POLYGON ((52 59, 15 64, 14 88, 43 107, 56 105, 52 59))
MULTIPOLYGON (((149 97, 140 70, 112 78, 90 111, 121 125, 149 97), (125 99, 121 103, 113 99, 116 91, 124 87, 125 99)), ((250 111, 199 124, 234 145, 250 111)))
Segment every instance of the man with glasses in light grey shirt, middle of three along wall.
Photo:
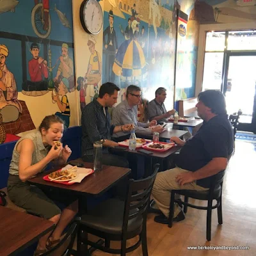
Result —
MULTIPOLYGON (((163 127, 157 125, 156 120, 152 120, 150 123, 141 123, 137 121, 138 116, 138 104, 141 100, 141 90, 139 86, 130 85, 127 87, 126 100, 118 104, 113 109, 112 123, 113 125, 134 124, 134 130, 136 134, 152 134, 152 132, 162 132, 163 127)), ((117 141, 122 141, 126 137, 129 138, 131 132, 116 132, 113 134, 113 138, 117 141)))

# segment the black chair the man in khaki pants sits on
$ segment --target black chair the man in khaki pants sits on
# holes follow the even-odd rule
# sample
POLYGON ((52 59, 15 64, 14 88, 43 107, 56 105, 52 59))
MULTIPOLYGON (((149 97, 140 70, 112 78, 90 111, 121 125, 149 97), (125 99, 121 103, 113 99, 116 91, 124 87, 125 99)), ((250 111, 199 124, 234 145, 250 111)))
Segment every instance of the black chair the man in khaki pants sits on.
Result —
MULTIPOLYGON (((233 152, 232 152, 233 154, 233 152)), ((228 161, 232 156, 230 154, 228 156, 228 161)), ((221 204, 221 196, 222 196, 222 184, 225 175, 225 170, 217 173, 212 176, 211 186, 207 191, 195 191, 195 190, 186 190, 186 189, 173 189, 171 194, 171 202, 170 202, 170 214, 168 218, 168 227, 172 227, 172 220, 174 214, 174 203, 184 205, 184 213, 188 211, 188 207, 192 207, 200 210, 207 210, 207 221, 206 221, 206 239, 207 241, 211 241, 211 222, 212 222, 212 209, 217 208, 218 210, 218 223, 222 224, 222 204, 221 204), (175 199, 175 194, 183 195, 184 202, 175 199), (207 206, 193 205, 189 204, 188 198, 194 198, 198 200, 208 201, 207 206), (216 200, 216 204, 212 205, 212 201, 216 200)))

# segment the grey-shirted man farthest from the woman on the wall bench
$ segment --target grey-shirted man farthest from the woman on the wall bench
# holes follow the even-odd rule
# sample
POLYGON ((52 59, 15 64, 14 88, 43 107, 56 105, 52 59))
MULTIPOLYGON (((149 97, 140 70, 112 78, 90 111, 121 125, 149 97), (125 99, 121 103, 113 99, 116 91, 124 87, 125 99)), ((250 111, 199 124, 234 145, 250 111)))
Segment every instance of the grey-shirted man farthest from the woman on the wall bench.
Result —
POLYGON ((156 90, 156 99, 148 103, 148 119, 156 120, 158 123, 167 122, 167 118, 175 113, 175 109, 166 111, 164 100, 166 99, 166 89, 159 87, 156 90))

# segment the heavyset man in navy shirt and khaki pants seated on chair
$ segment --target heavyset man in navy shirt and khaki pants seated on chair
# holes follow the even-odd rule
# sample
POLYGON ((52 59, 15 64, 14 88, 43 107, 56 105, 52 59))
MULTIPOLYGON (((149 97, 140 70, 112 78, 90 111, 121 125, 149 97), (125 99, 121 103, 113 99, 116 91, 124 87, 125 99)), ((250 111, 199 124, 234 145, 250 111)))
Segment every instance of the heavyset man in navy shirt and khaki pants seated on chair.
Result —
MULTIPOLYGON (((201 92, 196 108, 204 124, 188 141, 171 138, 182 146, 176 167, 157 174, 152 195, 162 214, 155 217, 156 222, 168 223, 172 189, 208 190, 212 175, 225 170, 233 152, 233 130, 224 95, 217 90, 201 92)), ((184 218, 184 212, 175 205, 173 221, 184 218)))

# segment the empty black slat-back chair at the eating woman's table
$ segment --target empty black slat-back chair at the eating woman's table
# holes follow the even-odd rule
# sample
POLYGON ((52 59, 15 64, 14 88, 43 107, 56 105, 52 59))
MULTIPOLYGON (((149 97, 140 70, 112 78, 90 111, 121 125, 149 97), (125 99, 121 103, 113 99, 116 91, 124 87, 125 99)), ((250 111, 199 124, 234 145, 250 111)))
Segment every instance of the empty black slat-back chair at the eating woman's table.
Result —
POLYGON ((79 255, 89 255, 88 245, 103 252, 126 255, 140 244, 143 256, 148 255, 147 209, 159 164, 155 164, 153 170, 154 173, 146 179, 129 180, 125 202, 110 198, 81 216, 77 234, 79 255), (88 234, 104 239, 104 246, 88 240, 88 234), (139 236, 139 241, 127 248, 127 240, 136 236, 139 236), (121 248, 110 248, 111 241, 121 241, 121 248))

